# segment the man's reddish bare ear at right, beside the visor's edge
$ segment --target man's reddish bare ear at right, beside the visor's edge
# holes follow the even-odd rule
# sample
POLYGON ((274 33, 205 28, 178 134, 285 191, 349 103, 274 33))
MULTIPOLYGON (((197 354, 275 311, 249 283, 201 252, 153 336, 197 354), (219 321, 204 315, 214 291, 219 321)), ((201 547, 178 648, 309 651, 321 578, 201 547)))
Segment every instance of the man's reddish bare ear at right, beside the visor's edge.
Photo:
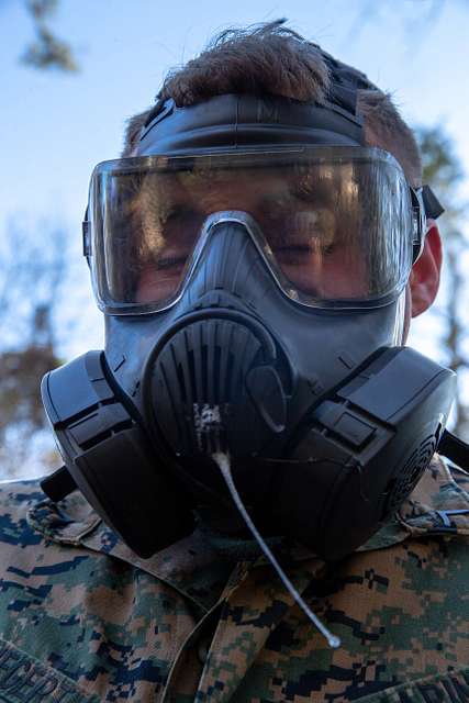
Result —
POLYGON ((434 220, 428 220, 427 225, 423 252, 415 261, 409 279, 412 317, 416 317, 432 305, 439 288, 442 238, 434 220))

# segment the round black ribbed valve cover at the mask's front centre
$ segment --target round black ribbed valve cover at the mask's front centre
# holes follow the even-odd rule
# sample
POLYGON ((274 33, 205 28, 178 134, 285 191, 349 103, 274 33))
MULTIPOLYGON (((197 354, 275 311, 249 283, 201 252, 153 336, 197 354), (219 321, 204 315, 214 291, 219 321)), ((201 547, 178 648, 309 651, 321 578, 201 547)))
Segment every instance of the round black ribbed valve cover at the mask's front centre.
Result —
POLYGON ((160 347, 150 412, 178 456, 255 456, 284 429, 289 373, 260 323, 213 312, 191 315, 160 347))

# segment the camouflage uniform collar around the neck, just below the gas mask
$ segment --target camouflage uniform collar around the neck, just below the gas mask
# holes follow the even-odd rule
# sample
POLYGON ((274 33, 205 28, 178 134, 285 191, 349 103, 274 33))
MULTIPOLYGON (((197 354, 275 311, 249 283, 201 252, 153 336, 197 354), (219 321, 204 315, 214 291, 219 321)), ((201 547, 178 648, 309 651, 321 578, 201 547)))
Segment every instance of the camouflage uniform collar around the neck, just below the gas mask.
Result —
MULTIPOLYGON (((358 551, 381 549, 409 537, 445 535, 469 536, 469 475, 461 469, 449 470, 435 455, 423 478, 399 513, 359 548, 358 551)), ((146 571, 208 610, 223 588, 234 587, 243 572, 266 563, 264 557, 245 562, 245 569, 233 570, 233 563, 220 559, 216 549, 201 531, 163 549, 149 559, 138 558, 90 507, 81 493, 75 492, 59 503, 43 500, 29 511, 30 523, 48 539, 63 545, 87 547, 110 555, 146 571)), ((303 548, 290 550, 290 560, 319 559, 303 548)))

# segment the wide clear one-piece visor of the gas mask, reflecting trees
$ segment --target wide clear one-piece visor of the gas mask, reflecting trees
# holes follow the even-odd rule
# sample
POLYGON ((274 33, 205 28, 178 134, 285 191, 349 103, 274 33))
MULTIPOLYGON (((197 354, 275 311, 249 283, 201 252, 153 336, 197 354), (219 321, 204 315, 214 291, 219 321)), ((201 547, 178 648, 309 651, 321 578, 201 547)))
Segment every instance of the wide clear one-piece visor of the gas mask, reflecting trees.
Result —
POLYGON ((107 161, 92 176, 91 270, 101 309, 171 304, 204 222, 233 210, 256 221, 277 282, 304 304, 378 304, 405 284, 413 210, 405 177, 384 152, 139 157, 107 161))

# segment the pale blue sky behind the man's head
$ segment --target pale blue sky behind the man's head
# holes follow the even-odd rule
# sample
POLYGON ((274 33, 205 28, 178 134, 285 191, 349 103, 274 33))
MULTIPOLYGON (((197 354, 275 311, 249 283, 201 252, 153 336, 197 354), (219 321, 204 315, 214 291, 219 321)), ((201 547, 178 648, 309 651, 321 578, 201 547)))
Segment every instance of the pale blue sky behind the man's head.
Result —
MULTIPOLYGON (((152 104, 165 74, 214 33, 281 16, 391 91, 411 125, 445 124, 469 172, 465 0, 62 0, 51 26, 71 44, 76 76, 21 65, 32 21, 23 0, 0 0, 0 238, 13 225, 64 231, 70 270, 59 305, 64 358, 102 346, 80 248, 93 166, 119 156, 125 121, 152 104)), ((411 339, 435 355, 434 336, 422 321, 411 339)))

